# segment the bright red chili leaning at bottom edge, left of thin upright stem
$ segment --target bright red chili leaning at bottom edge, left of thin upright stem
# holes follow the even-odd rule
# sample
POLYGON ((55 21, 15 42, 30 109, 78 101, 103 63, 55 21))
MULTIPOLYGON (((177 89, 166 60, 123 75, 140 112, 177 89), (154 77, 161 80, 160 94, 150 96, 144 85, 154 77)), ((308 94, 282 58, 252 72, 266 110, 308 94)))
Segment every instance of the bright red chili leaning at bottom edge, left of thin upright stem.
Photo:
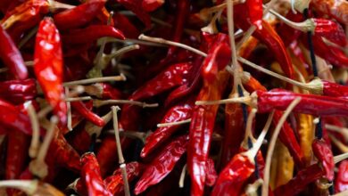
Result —
POLYGON ((86 185, 88 195, 112 195, 105 189, 98 161, 93 152, 81 157, 81 181, 86 185))

